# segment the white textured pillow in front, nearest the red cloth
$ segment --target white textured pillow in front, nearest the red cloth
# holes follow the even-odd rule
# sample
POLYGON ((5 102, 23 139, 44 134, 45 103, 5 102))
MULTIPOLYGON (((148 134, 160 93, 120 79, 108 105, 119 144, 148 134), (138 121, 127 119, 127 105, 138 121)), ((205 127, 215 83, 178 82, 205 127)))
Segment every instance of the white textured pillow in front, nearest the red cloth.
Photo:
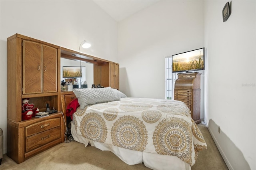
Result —
POLYGON ((73 89, 81 109, 87 105, 120 100, 110 87, 96 89, 73 89))

